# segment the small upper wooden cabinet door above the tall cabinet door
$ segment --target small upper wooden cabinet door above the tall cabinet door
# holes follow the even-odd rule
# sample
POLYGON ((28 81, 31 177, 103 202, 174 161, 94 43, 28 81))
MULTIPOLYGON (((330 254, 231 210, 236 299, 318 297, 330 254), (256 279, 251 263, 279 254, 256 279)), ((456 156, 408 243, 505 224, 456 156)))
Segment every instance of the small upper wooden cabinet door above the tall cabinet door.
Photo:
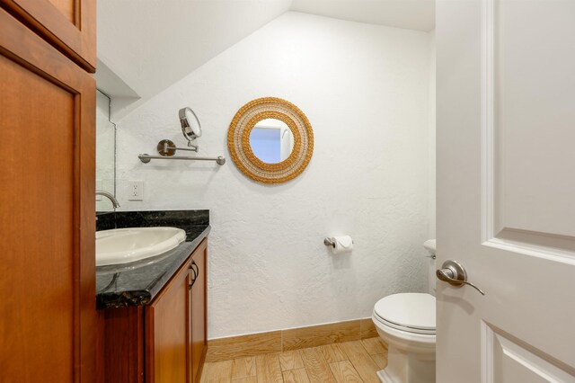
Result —
POLYGON ((0 0, 0 4, 80 67, 95 72, 95 0, 0 0))

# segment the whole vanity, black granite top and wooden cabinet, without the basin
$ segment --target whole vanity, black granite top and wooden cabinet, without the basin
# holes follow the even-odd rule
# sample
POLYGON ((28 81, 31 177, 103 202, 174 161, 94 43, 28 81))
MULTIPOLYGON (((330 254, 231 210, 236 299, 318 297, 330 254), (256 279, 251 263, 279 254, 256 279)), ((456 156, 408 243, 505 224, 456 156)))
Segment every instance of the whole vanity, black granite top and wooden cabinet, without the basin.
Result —
MULTIPOLYGON (((116 213, 115 227, 180 227, 187 238, 142 262, 97 268, 102 381, 199 381, 207 351, 210 227, 207 210, 193 213, 192 218, 190 211, 116 213)), ((112 218, 100 216, 99 227, 112 218)))

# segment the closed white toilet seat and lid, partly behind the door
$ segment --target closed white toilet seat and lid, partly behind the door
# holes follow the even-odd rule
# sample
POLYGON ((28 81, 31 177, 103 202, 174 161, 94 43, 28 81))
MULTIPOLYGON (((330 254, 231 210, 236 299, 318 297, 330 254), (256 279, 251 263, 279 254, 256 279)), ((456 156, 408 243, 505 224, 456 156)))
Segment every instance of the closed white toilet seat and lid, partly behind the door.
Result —
POLYGON ((377 301, 374 318, 405 333, 435 335, 435 297, 424 293, 389 295, 377 301))

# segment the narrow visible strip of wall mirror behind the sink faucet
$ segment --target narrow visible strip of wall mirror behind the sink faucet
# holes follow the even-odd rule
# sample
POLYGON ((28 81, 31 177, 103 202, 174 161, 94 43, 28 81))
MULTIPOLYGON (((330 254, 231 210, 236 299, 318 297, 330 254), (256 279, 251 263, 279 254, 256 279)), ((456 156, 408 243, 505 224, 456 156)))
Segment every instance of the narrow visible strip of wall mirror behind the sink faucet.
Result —
MULTIPOLYGON (((116 195, 116 125, 110 120, 110 99, 96 93, 96 190, 116 195)), ((111 200, 96 196, 96 211, 113 210, 111 200)))

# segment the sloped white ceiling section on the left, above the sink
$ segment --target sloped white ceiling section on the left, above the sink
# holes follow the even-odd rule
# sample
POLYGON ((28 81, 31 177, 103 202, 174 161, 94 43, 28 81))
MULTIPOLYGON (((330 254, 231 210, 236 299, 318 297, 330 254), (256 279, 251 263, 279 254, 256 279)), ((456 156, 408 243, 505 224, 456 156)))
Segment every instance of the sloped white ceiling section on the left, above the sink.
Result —
POLYGON ((99 70, 96 79, 104 92, 116 96, 111 117, 119 120, 288 11, 291 0, 98 0, 97 4, 98 65, 106 69, 99 70), (123 86, 111 85, 115 76, 123 86))

